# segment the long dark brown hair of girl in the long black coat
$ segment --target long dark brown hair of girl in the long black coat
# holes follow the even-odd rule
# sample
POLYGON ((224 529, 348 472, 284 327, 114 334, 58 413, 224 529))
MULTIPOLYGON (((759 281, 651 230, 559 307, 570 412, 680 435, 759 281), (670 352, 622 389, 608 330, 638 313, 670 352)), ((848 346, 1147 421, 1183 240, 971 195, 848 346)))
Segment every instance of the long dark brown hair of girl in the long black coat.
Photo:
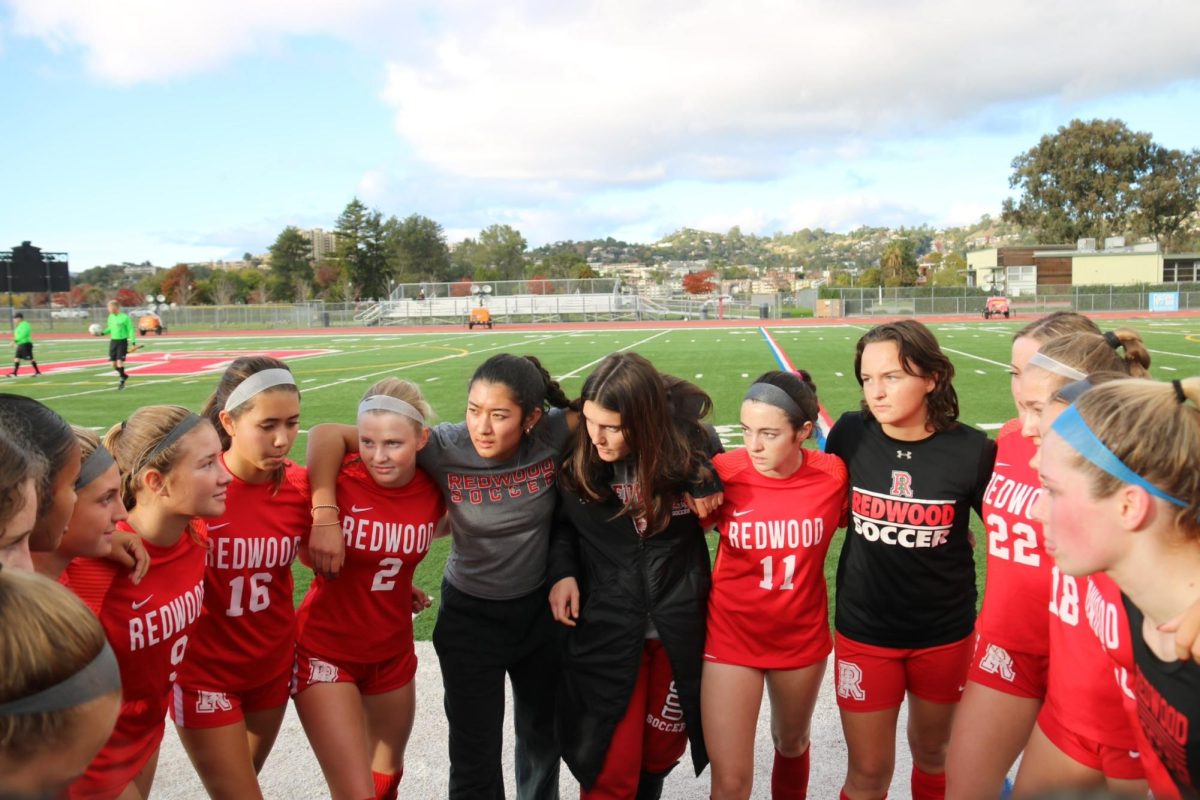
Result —
MULTIPOLYGON (((701 425, 713 402, 698 386, 662 375, 636 353, 613 353, 583 381, 580 404, 590 401, 620 415, 622 433, 632 453, 638 491, 622 515, 646 521, 647 535, 671 522, 671 505, 691 481, 708 475, 708 433, 701 425)), ((587 426, 559 470, 560 485, 592 501, 613 499, 613 467, 602 461, 587 426)))

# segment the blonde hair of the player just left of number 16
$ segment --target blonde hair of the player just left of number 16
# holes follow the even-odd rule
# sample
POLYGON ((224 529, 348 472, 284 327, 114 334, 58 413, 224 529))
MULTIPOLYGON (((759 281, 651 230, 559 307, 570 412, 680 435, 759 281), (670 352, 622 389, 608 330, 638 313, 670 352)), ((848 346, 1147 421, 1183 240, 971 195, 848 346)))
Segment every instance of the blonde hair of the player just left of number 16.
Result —
POLYGON ((211 422, 202 419, 196 428, 155 452, 155 447, 175 429, 175 426, 191 415, 192 413, 182 405, 146 405, 124 422, 114 425, 104 434, 104 447, 113 453, 116 469, 121 473, 121 500, 126 510, 132 510, 137 505, 138 491, 143 487, 143 474, 148 469, 168 475, 184 452, 181 445, 202 426, 211 427, 211 422))

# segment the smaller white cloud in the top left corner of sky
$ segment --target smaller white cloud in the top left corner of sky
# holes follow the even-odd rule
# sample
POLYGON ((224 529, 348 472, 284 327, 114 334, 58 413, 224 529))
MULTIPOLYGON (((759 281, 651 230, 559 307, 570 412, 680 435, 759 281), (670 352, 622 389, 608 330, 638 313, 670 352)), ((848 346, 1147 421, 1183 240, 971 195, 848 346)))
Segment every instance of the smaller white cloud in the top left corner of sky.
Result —
POLYGON ((385 0, 8 0, 12 32, 80 48, 115 84, 167 80, 271 49, 286 36, 350 36, 385 0))

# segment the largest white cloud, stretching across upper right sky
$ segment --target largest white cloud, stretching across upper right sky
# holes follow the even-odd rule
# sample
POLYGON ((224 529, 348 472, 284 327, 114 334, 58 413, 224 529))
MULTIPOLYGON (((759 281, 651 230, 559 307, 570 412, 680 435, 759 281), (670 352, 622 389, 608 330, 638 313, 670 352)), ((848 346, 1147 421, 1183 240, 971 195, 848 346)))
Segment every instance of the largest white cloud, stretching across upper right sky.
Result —
POLYGON ((1016 101, 1200 74, 1190 0, 454 8, 430 61, 389 64, 384 98, 420 157, 475 178, 758 178, 1016 101))

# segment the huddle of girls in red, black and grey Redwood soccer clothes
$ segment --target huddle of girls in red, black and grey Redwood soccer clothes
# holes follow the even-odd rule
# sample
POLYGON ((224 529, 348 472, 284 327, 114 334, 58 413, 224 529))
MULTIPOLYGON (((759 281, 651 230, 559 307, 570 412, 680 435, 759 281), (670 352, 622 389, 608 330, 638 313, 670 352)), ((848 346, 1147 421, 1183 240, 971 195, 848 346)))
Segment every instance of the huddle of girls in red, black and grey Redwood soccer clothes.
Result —
POLYGON ((716 800, 805 798, 830 652, 842 798, 887 796, 905 702, 916 800, 1000 798, 1018 758, 1016 798, 1195 798, 1200 378, 1148 366, 1132 330, 1031 323, 992 440, 958 421, 934 335, 882 324, 823 450, 811 378, 768 372, 725 452, 710 398, 637 354, 574 399, 502 354, 463 422, 389 378, 355 426, 310 431, 306 467, 299 387, 266 356, 198 414, 144 407, 103 439, 0 395, 0 799, 142 800, 168 715, 210 796, 262 798, 289 698, 332 798, 397 798, 438 536, 451 798, 503 798, 508 764, 518 798, 557 799, 563 762, 584 800, 659 798, 689 750, 716 800))

